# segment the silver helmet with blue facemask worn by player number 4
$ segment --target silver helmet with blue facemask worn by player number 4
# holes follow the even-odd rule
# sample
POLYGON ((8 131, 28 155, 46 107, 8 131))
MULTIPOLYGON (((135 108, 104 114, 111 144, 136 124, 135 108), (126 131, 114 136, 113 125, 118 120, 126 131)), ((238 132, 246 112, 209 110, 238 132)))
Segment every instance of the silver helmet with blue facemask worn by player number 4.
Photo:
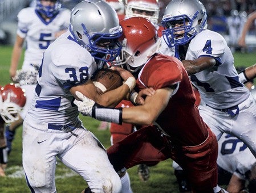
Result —
POLYGON ((185 45, 207 28, 204 5, 198 0, 172 0, 162 17, 162 36, 169 47, 185 45))

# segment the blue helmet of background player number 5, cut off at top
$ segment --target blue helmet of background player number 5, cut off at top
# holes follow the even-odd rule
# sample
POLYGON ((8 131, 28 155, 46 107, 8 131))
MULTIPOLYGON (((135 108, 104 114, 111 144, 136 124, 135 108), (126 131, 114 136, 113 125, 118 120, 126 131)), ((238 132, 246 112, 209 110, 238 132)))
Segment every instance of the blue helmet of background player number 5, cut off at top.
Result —
POLYGON ((47 18, 52 18, 58 14, 61 4, 59 0, 51 0, 51 2, 55 2, 54 6, 43 6, 40 0, 36 0, 35 9, 40 12, 40 14, 46 15, 47 18))

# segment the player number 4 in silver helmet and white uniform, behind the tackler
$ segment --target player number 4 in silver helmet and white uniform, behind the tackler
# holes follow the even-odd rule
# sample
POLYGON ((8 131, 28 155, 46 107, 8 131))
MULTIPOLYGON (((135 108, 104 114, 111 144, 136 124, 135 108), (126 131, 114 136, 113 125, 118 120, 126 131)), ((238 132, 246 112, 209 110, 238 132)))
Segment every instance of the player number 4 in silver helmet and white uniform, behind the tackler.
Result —
POLYGON ((173 0, 162 18, 159 50, 182 60, 204 106, 200 115, 220 139, 236 136, 256 157, 256 104, 239 81, 234 57, 219 33, 207 30, 204 5, 197 0, 173 0))

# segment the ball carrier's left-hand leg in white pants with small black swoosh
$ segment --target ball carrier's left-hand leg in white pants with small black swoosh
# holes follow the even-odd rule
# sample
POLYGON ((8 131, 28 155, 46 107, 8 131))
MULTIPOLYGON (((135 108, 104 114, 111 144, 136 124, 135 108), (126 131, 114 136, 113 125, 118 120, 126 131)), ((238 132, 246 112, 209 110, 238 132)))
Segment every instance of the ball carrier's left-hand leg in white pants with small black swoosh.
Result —
MULTIPOLYGON (((30 119, 30 118, 29 118, 30 119)), ((43 125, 36 125, 43 129, 43 125)), ((27 186, 31 192, 55 192, 56 152, 53 133, 36 129, 23 123, 22 164, 26 175, 27 186), (51 148, 50 148, 51 147, 51 148)))

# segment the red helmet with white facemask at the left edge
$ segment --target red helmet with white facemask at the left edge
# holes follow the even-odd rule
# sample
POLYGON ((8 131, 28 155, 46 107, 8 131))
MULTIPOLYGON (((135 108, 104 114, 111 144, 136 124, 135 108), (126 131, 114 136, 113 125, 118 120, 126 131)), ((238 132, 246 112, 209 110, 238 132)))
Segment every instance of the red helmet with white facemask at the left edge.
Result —
POLYGON ((25 91, 14 83, 9 83, 1 87, 0 98, 0 115, 5 123, 18 120, 18 114, 26 103, 25 91))

